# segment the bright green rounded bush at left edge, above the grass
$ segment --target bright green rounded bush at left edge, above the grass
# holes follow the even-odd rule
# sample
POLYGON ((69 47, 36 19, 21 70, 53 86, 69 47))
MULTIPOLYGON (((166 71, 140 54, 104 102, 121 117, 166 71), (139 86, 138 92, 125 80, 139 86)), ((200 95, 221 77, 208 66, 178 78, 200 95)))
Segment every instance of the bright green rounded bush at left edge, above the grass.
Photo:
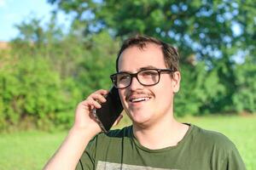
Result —
POLYGON ((1 71, 1 120, 17 127, 30 120, 44 129, 50 128, 51 121, 70 122, 71 119, 61 120, 59 116, 72 114, 67 99, 73 96, 62 92, 60 75, 49 68, 49 61, 34 57, 15 57, 15 63, 1 71))

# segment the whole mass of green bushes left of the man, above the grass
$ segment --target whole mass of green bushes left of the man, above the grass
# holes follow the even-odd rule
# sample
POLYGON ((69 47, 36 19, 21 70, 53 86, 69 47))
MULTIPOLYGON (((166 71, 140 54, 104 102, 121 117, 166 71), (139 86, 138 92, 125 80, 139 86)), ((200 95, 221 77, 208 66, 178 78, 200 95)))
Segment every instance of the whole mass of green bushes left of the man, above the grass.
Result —
MULTIPOLYGON (((30 24, 35 25, 33 20, 30 24)), ((49 36, 53 32, 41 32, 42 43, 31 41, 32 32, 21 33, 1 54, 0 131, 71 127, 79 101, 110 88, 118 41, 103 31, 87 39, 73 34, 58 39, 49 36)))

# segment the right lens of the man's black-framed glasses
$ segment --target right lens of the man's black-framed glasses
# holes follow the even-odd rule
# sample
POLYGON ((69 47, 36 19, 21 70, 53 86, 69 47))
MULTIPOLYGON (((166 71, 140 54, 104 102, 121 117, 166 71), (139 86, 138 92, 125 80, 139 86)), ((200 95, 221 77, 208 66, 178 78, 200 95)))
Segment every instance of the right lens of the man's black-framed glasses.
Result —
POLYGON ((159 73, 156 70, 140 71, 137 78, 143 85, 154 85, 159 82, 159 73))

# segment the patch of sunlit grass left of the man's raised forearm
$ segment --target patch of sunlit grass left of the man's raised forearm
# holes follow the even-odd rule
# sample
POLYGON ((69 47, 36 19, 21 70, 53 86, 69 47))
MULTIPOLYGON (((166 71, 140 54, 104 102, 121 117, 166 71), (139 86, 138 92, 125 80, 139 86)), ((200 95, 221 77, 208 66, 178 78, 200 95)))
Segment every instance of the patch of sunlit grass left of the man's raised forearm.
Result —
POLYGON ((43 132, 0 134, 0 169, 42 169, 66 134, 43 132))

